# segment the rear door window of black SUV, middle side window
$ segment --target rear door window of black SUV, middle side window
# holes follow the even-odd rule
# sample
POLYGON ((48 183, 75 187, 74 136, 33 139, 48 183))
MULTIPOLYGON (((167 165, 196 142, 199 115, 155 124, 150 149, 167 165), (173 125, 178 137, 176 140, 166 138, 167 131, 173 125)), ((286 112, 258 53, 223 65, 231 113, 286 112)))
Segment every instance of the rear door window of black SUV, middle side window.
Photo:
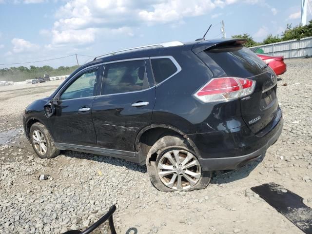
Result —
POLYGON ((145 60, 105 65, 102 95, 139 91, 149 88, 145 60))

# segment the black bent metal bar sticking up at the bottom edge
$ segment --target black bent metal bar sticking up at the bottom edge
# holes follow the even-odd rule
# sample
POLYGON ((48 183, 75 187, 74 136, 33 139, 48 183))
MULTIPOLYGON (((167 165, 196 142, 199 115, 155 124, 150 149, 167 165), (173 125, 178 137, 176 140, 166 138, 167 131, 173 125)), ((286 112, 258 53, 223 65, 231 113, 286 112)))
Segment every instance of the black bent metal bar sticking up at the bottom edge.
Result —
POLYGON ((84 231, 78 231, 78 230, 72 230, 72 231, 67 231, 63 234, 89 234, 91 233, 93 230, 95 230, 96 228, 98 228, 99 225, 101 225, 102 223, 104 223, 107 219, 108 219, 108 223, 109 223, 109 228, 111 230, 111 234, 116 234, 116 230, 115 230, 115 226, 114 226, 114 221, 113 221, 113 214, 116 211, 116 206, 113 205, 109 208, 109 211, 103 216, 101 217, 97 222, 95 222, 94 224, 92 224, 89 228, 87 228, 84 231))

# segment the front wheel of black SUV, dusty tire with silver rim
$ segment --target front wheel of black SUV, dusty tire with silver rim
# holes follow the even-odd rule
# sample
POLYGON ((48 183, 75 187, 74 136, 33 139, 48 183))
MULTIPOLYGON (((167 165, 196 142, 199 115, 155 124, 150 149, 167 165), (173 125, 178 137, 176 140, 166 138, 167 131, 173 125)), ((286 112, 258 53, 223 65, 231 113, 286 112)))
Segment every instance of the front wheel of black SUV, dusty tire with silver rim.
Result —
POLYGON ((55 147, 48 129, 42 123, 37 122, 31 125, 29 138, 40 158, 53 158, 59 155, 59 150, 55 147))

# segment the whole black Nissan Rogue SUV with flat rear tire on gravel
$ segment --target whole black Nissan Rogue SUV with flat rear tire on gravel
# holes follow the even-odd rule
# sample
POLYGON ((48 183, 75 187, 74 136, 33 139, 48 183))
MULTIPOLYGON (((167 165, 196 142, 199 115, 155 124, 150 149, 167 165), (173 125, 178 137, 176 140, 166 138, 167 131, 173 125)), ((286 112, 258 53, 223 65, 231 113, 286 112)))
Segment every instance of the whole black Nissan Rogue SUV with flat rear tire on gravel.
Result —
POLYGON ((123 50, 79 67, 23 117, 37 155, 74 150, 146 164, 161 191, 263 156, 280 136, 276 75, 242 39, 123 50))

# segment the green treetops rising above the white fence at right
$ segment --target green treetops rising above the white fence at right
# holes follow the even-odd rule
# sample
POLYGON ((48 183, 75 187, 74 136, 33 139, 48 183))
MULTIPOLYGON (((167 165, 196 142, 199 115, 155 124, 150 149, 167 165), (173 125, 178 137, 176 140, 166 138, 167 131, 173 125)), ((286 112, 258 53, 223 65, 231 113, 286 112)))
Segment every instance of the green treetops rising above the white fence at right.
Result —
POLYGON ((253 37, 247 33, 232 36, 232 38, 247 39, 247 42, 244 44, 246 47, 260 46, 292 39, 299 40, 306 37, 312 37, 312 20, 310 20, 309 24, 305 26, 299 24, 293 28, 292 24, 287 24, 286 30, 281 36, 273 36, 272 34, 269 34, 262 42, 256 42, 253 37))

